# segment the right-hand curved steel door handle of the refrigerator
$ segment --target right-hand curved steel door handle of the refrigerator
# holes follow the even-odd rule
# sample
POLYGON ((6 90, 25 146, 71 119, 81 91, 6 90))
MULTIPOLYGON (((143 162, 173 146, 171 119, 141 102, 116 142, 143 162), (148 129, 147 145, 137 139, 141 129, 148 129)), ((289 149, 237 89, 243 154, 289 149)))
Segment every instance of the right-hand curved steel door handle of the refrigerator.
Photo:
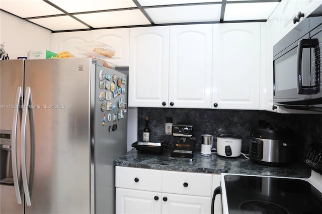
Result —
MULTIPOLYGON (((31 89, 30 87, 26 88, 25 99, 24 99, 24 108, 22 112, 22 123, 21 123, 21 169, 22 169, 22 182, 25 192, 25 200, 27 206, 31 206, 31 199, 30 199, 30 191, 29 191, 29 184, 27 178, 27 165, 26 165, 26 125, 27 125, 27 113, 29 111, 29 120, 30 122, 33 121, 33 114, 31 100, 31 89)), ((30 123, 31 124, 31 123, 30 123)), ((32 132, 32 128, 30 127, 32 132)), ((31 133, 31 138, 33 138, 31 133)), ((31 139, 32 141, 33 139, 31 139)))

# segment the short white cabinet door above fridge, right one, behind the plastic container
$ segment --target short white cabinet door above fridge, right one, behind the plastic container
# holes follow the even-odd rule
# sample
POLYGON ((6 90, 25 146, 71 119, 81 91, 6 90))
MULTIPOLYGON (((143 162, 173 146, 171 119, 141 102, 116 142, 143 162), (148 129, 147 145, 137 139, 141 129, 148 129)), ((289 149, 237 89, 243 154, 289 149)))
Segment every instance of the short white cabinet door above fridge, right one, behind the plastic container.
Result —
POLYGON ((111 45, 115 56, 108 59, 117 66, 129 66, 129 28, 93 30, 92 39, 111 45))

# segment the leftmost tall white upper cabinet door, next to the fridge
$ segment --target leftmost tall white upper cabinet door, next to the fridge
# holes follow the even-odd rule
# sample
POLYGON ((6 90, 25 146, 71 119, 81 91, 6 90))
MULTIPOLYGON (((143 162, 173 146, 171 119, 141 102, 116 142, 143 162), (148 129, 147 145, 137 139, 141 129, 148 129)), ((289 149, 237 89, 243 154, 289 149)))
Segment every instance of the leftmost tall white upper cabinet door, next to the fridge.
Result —
POLYGON ((129 106, 168 107, 169 26, 130 29, 129 106))

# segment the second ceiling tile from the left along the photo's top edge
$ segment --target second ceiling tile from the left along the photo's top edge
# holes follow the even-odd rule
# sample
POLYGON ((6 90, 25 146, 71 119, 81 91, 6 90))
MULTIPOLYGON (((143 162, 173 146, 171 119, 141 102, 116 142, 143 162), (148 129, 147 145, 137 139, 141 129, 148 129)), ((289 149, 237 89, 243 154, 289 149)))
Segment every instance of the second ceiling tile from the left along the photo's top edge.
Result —
POLYGON ((112 10, 120 8, 136 8, 136 5, 132 0, 49 0, 51 3, 57 5, 68 13, 89 12, 89 11, 101 11, 112 10))

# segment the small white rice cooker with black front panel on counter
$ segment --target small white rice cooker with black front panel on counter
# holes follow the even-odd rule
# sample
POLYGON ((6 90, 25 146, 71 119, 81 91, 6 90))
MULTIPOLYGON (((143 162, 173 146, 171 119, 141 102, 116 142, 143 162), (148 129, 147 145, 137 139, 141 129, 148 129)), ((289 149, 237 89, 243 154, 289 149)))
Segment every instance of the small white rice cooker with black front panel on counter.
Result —
POLYGON ((238 157, 241 152, 241 137, 221 134, 217 136, 217 154, 223 157, 238 157))

